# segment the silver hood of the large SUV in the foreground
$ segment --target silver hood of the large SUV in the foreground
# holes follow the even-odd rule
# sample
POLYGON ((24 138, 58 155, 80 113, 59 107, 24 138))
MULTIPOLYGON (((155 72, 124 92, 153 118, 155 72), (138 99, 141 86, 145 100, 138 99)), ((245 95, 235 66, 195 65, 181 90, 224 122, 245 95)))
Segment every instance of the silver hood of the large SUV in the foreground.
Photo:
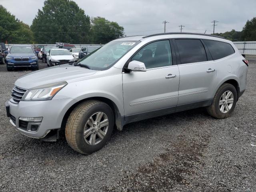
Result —
POLYGON ((96 73, 95 70, 89 70, 80 66, 64 64, 45 68, 24 75, 16 80, 15 85, 24 89, 30 89, 36 86, 45 85, 54 82, 75 81, 78 78, 87 78, 96 73))

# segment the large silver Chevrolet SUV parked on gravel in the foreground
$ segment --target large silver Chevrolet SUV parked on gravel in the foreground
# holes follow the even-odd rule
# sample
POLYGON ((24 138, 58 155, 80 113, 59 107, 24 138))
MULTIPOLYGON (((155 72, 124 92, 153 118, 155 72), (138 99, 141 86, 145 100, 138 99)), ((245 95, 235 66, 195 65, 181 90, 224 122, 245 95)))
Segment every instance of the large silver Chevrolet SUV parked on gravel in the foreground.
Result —
POLYGON ((230 116, 246 88, 248 61, 218 36, 166 33, 119 38, 76 64, 54 66, 15 82, 6 102, 24 135, 54 140, 65 130, 82 154, 102 148, 114 126, 206 107, 230 116))

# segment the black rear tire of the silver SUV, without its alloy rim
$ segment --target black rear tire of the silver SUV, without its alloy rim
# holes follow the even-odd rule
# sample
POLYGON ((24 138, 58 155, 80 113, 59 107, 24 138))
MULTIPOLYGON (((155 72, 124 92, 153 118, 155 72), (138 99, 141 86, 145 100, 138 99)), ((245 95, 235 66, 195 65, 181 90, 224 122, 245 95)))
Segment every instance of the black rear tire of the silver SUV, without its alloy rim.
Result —
POLYGON ((236 88, 232 84, 224 83, 224 84, 222 84, 222 86, 220 86, 220 88, 218 88, 218 90, 213 98, 212 104, 207 107, 207 112, 210 114, 210 116, 212 116, 214 118, 218 118, 218 119, 227 118, 234 111, 236 102, 237 102, 236 88), (219 102, 220 102, 220 98, 221 98, 222 94, 226 91, 232 92, 234 100, 233 100, 233 104, 232 104, 232 107, 230 108, 230 110, 226 113, 223 113, 220 111, 219 102))

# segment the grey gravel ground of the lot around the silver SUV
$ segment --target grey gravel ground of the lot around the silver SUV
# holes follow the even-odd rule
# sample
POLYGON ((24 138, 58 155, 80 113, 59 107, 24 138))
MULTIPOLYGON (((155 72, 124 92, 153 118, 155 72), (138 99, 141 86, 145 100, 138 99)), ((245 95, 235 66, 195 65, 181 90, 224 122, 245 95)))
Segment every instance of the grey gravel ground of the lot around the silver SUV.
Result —
POLYGON ((256 58, 249 62, 229 118, 200 108, 128 124, 91 155, 72 150, 63 133, 57 142, 20 134, 4 102, 31 71, 0 65, 0 191, 256 191, 256 58))

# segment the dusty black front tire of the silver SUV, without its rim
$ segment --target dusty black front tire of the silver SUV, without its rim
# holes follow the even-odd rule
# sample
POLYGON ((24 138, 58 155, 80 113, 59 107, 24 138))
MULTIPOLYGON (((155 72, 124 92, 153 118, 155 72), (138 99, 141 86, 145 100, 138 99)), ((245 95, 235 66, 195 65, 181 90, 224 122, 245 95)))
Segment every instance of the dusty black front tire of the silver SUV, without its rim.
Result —
MULTIPOLYGON (((65 135, 68 145, 81 154, 91 154, 109 140, 114 127, 114 115, 110 106, 97 100, 88 100, 78 104, 70 113, 66 122, 65 135), (97 112, 103 112, 108 117, 108 129, 104 138, 95 145, 89 145, 84 139, 84 127, 88 119, 97 112)), ((98 133, 97 133, 98 134, 98 133)))

